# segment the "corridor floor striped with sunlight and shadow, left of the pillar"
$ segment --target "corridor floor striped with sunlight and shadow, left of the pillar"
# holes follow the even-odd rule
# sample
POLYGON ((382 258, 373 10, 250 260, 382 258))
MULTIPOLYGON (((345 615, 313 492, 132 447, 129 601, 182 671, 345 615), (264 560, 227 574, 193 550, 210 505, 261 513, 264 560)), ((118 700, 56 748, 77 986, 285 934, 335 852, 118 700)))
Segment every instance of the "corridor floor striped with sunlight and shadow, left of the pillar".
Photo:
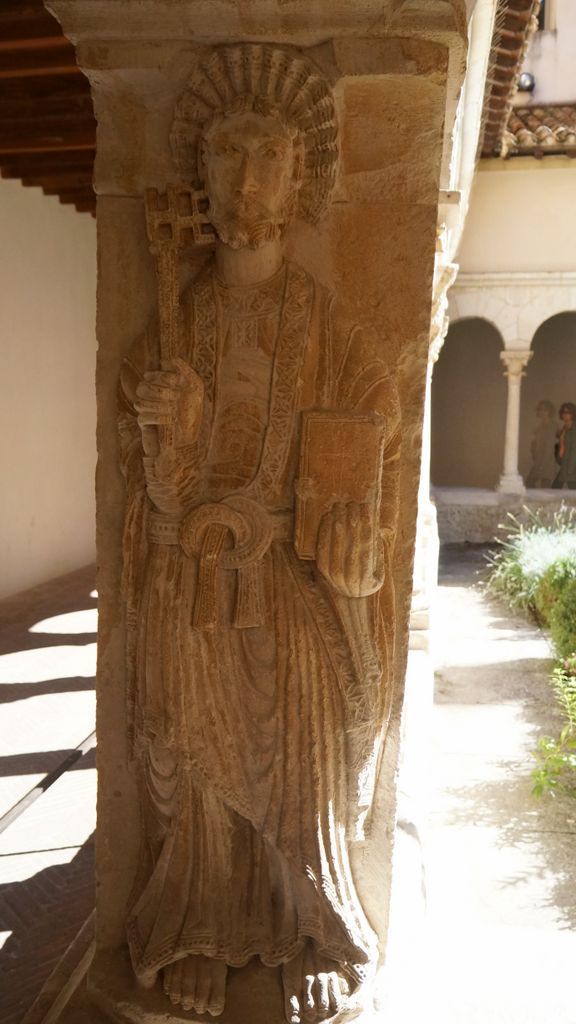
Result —
POLYGON ((18 1024, 93 906, 93 579, 0 602, 2 1024, 18 1024))

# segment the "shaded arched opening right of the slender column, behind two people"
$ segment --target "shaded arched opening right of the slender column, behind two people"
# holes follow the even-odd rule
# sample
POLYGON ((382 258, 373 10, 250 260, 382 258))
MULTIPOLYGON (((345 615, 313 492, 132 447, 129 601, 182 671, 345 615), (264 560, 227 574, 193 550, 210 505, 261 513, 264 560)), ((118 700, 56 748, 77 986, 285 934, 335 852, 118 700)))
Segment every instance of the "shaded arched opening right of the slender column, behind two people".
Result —
MULTIPOLYGON (((554 430, 546 427, 544 412, 537 417, 538 407, 551 402, 552 422, 559 425, 558 411, 563 401, 576 403, 576 312, 558 313, 540 325, 532 341, 533 355, 522 382, 520 416, 519 469, 529 486, 543 486, 545 475, 532 473, 533 443, 542 447, 546 436, 551 445, 550 469, 556 472, 553 460, 554 430)), ((540 456, 538 456, 540 459, 540 456)), ((544 457, 545 462, 545 457, 544 457)))

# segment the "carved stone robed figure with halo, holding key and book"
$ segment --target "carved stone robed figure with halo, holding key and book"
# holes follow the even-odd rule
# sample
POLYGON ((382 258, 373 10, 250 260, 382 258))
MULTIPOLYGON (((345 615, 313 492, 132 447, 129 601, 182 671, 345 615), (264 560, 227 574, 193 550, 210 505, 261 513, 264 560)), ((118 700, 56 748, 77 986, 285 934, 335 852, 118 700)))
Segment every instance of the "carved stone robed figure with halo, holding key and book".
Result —
POLYGON ((349 851, 390 688, 398 397, 382 340, 283 254, 335 181, 318 68, 215 49, 172 143, 215 244, 121 380, 132 965, 167 1013, 216 1016, 229 968, 259 957, 288 1022, 339 1019, 376 958, 349 851))

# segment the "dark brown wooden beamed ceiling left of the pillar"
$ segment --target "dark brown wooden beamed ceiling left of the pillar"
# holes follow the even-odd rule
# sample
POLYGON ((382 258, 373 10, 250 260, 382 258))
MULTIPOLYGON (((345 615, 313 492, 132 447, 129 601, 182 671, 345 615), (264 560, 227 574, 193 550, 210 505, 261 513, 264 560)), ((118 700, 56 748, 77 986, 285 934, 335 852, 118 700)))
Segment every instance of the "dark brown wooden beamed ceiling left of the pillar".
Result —
POLYGON ((94 213, 90 87, 42 0, 0 0, 0 173, 94 213))

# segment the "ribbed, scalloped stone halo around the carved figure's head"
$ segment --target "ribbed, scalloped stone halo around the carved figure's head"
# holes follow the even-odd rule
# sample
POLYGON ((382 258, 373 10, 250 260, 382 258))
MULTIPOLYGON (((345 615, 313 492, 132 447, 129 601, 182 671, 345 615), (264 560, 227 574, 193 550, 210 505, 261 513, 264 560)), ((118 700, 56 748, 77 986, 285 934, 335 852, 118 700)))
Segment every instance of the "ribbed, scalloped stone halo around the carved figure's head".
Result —
POLYGON ((297 50, 260 43, 219 46, 199 66, 176 103, 170 133, 182 179, 198 178, 199 145, 211 125, 247 110, 277 117, 299 136, 304 160, 298 212, 316 223, 336 180, 336 112, 327 79, 297 50))

